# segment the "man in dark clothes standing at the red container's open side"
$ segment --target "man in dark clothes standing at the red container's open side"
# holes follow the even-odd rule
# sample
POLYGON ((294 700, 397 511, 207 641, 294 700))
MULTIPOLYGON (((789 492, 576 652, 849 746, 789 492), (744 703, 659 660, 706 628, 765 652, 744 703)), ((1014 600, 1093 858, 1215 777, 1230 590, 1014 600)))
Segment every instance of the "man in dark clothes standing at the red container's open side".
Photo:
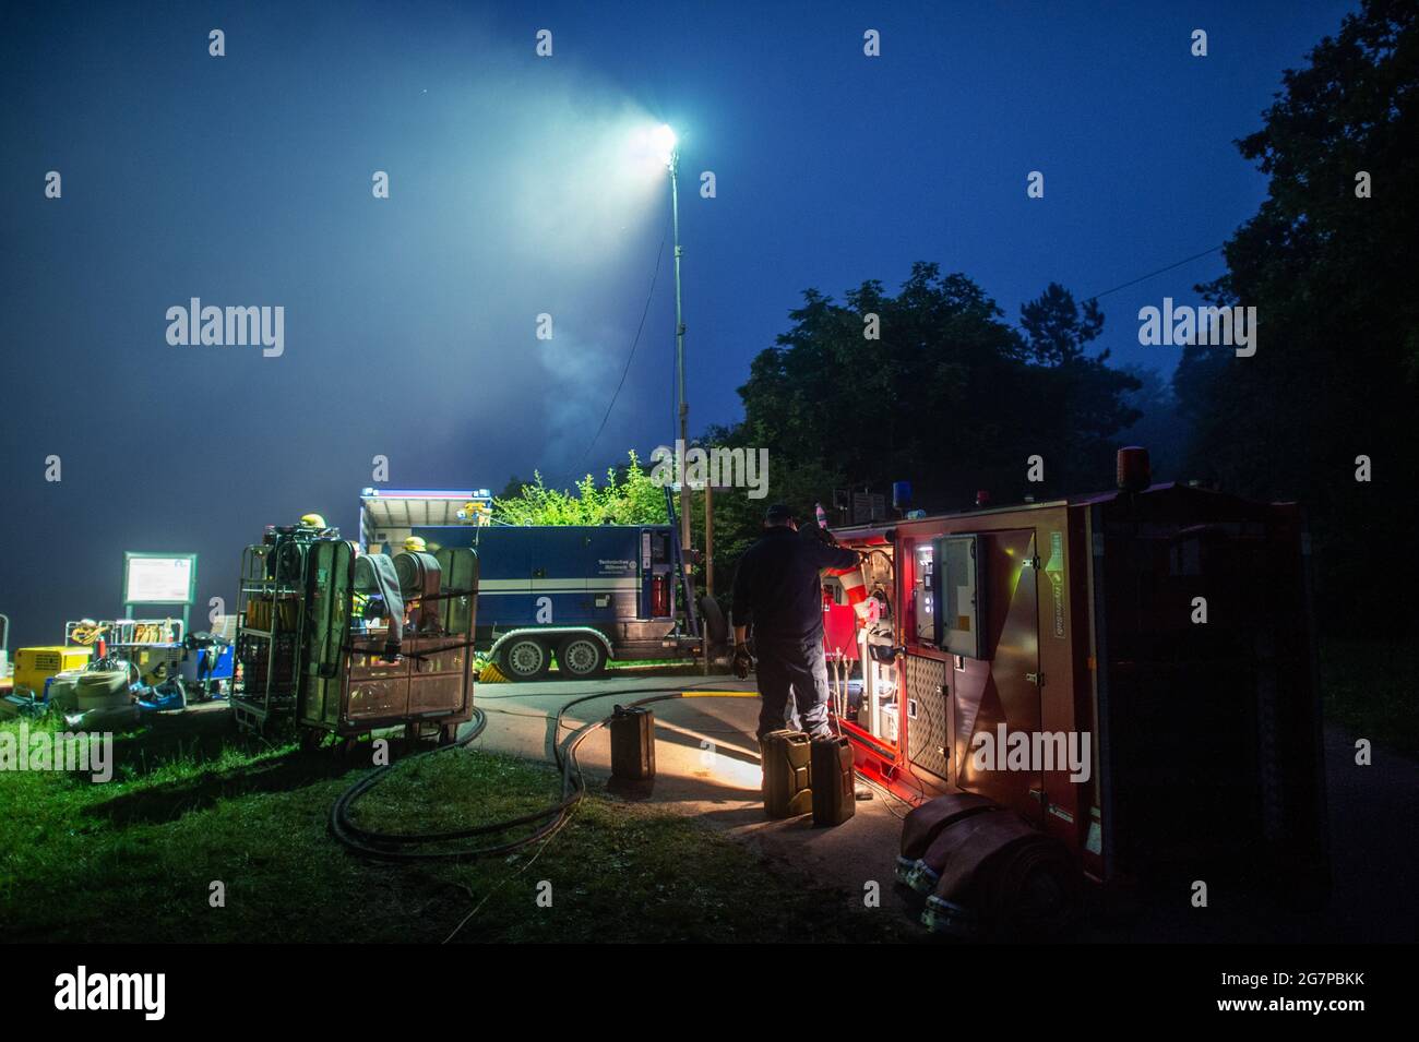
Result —
POLYGON ((805 730, 815 739, 832 737, 819 571, 857 563, 856 550, 800 536, 792 510, 780 503, 769 508, 763 537, 739 560, 734 577, 734 665, 736 673, 748 676, 745 641, 753 625, 763 699, 761 741, 783 727, 805 730))

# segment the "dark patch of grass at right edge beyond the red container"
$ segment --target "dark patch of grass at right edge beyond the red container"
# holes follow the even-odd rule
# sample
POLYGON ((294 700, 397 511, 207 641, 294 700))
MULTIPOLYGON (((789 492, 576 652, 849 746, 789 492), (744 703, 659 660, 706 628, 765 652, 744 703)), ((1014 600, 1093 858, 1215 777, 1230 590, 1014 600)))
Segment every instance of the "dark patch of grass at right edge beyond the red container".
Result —
POLYGON ((1354 737, 1419 756, 1419 712, 1406 644, 1332 641, 1321 645, 1325 719, 1354 737))

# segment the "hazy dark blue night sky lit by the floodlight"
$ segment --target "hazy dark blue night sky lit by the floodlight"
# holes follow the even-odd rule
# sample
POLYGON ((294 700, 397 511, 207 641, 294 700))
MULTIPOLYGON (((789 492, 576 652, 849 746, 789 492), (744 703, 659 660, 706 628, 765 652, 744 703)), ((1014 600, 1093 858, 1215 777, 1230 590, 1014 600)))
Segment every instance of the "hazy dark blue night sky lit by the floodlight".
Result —
MULTIPOLYGON (((10 4, 11 648, 115 612, 125 549, 196 550, 201 603, 230 598, 264 523, 316 509, 353 527, 375 454, 394 486, 575 469, 667 223, 666 180, 620 164, 634 125, 683 138, 698 430, 738 417, 749 360, 806 286, 895 286, 931 259, 1013 320, 1051 279, 1086 296, 1222 242, 1264 196, 1233 139, 1349 7, 10 4), (192 296, 284 306, 285 354, 169 346, 166 309, 192 296)), ((1103 344, 1171 373, 1137 310, 1219 271, 1209 257, 1107 296, 1103 344)), ((671 308, 667 247, 589 466, 667 438, 671 308)))

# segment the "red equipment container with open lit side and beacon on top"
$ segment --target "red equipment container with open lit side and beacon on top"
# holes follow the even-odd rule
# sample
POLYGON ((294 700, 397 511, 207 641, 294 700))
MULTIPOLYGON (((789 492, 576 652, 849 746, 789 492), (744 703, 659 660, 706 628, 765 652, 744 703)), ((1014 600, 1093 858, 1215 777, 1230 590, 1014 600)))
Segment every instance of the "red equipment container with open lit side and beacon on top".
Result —
POLYGON ((986 797, 1100 882, 1219 861, 1325 878, 1294 505, 1152 485, 834 534, 870 551, 861 683, 836 700, 870 778, 986 797))

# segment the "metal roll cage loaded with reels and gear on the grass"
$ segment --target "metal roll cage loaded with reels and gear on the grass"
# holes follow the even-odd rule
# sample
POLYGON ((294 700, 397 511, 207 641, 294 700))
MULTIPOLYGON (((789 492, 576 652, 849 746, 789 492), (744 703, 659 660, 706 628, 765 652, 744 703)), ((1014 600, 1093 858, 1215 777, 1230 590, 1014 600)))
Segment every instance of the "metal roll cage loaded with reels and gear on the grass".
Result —
POLYGON ((473 716, 478 557, 360 553, 339 530, 270 526, 243 553, 231 709, 302 740, 403 724, 450 743, 473 716))

